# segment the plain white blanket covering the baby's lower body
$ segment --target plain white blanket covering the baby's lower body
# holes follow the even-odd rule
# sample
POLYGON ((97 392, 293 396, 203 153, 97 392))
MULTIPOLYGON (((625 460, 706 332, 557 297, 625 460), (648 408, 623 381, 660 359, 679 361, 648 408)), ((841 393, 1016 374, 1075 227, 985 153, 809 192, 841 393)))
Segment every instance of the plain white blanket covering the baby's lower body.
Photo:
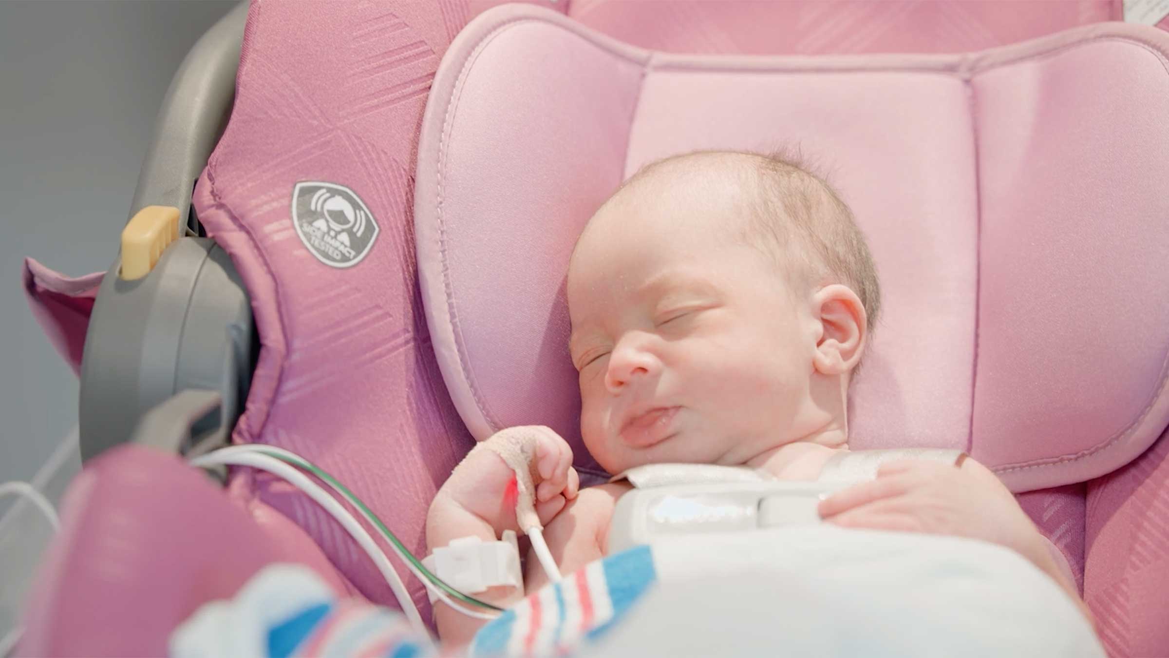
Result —
POLYGON ((586 656, 1105 656, 1018 554, 957 537, 793 527, 653 547, 659 583, 586 656))

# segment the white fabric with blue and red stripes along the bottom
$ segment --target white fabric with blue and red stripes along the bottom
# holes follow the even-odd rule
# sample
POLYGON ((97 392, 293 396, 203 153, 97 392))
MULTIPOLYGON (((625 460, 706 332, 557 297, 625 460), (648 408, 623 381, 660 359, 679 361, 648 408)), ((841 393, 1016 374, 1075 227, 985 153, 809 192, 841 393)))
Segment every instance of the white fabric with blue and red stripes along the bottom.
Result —
MULTIPOLYGON (((569 654, 601 637, 657 574, 649 547, 599 560, 540 589, 476 635, 472 656, 569 654)), ((231 601, 201 608, 171 638, 171 654, 357 658, 438 656, 396 610, 338 601, 310 569, 275 564, 231 601)))

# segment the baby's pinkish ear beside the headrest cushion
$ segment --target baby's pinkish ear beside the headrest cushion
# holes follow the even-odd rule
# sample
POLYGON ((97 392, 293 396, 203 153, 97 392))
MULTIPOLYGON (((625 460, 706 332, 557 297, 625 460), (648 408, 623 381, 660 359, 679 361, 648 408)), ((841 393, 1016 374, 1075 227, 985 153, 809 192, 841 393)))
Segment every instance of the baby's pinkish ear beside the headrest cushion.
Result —
POLYGON ((832 283, 812 295, 811 311, 821 330, 812 357, 816 371, 822 375, 851 371, 865 349, 869 317, 865 304, 848 286, 832 283))

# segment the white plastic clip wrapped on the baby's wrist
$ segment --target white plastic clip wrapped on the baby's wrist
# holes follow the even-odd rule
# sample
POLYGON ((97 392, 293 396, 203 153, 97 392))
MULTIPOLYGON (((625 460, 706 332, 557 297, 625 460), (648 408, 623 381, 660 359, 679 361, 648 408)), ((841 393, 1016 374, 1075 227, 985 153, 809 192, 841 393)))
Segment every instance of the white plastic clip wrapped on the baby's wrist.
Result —
MULTIPOLYGON (((513 530, 504 530, 502 541, 459 537, 422 560, 422 566, 463 594, 479 594, 499 585, 523 587, 519 542, 513 530)), ((430 588, 430 603, 437 597, 430 588)))

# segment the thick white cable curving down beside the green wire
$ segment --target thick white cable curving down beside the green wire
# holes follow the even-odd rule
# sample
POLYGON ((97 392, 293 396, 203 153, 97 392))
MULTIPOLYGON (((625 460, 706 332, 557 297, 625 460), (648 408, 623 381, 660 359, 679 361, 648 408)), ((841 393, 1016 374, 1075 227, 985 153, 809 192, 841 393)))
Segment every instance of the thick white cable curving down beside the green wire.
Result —
POLYGON ((381 576, 386 578, 389 584, 389 589, 394 591, 394 596, 397 597, 399 605, 402 606, 402 611, 406 612, 406 617, 414 624, 416 631, 424 636, 430 635, 427 625, 422 622, 422 615, 419 614, 419 609, 414 605, 414 601, 410 599, 409 594, 406 591, 406 584, 402 583, 402 577, 397 575, 394 566, 389 563, 389 558, 386 554, 378 547, 369 536, 369 533, 358 523, 357 519, 348 513, 341 503, 337 502, 337 499, 328 495, 328 492, 320 488, 319 485, 310 480, 304 473, 300 473, 292 466, 276 459, 275 457, 269 457, 267 454, 260 454, 258 452, 245 453, 237 452, 234 454, 224 454, 226 451, 216 451, 207 453, 202 457, 196 457, 191 460, 194 466, 250 466, 253 468, 260 468, 261 471, 267 471, 275 475, 279 475, 289 484, 293 485, 302 492, 304 492, 309 498, 314 500, 318 505, 325 508, 333 519, 337 519, 353 539, 365 549, 366 554, 373 560, 378 570, 381 571, 381 576))

